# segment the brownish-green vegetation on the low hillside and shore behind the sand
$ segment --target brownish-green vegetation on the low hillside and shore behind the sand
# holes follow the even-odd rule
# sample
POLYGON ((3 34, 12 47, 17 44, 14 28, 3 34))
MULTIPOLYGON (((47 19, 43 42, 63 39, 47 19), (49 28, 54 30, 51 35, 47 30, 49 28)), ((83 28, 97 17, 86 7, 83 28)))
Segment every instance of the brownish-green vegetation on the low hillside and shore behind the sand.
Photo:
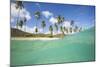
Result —
POLYGON ((28 32, 24 32, 24 31, 18 30, 18 29, 11 28, 11 37, 29 37, 29 38, 30 37, 33 37, 33 38, 39 38, 39 37, 51 38, 51 37, 56 37, 56 38, 61 38, 62 34, 57 34, 57 35, 53 35, 53 36, 51 36, 51 34, 43 34, 43 33, 32 34, 32 33, 28 33, 28 32))

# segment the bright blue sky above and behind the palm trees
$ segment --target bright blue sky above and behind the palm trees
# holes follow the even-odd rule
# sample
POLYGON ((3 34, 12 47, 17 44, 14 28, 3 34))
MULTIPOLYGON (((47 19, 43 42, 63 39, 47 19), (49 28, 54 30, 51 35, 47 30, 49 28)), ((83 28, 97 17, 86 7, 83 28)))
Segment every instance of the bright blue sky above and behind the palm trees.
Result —
MULTIPOLYGON (((55 4, 55 3, 40 3, 40 2, 23 2, 24 9, 29 13, 29 20, 26 22, 27 27, 33 28, 38 23, 38 28, 41 28, 41 21, 46 21, 45 32, 48 31, 48 27, 53 25, 53 21, 58 15, 64 16, 65 21, 74 20, 75 24, 79 27, 90 28, 95 25, 95 7, 94 6, 82 6, 82 5, 70 5, 70 4, 55 4), (42 16, 40 20, 36 20, 34 13, 40 11, 42 16), (51 20, 51 21, 50 21, 51 20)), ((15 18, 16 19, 16 18, 15 18)), ((15 20, 14 19, 14 20, 15 20)), ((65 22, 66 23, 66 22, 65 22)), ((11 26, 15 26, 16 21, 11 23, 11 26)))

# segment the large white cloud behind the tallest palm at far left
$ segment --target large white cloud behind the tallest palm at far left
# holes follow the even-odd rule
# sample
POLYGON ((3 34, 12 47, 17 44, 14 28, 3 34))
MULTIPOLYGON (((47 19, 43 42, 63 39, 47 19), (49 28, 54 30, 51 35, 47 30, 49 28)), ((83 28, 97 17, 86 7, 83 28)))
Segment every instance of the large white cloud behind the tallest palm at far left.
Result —
POLYGON ((15 3, 11 3, 11 22, 15 21, 15 18, 18 17, 18 15, 20 16, 20 18, 26 18, 27 20, 31 19, 30 13, 25 9, 16 9, 16 4, 15 3))

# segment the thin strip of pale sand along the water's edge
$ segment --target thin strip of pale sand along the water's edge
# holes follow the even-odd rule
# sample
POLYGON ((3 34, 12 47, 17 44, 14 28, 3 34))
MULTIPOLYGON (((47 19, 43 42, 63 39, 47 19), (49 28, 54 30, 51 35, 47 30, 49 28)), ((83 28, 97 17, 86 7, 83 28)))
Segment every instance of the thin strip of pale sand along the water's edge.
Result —
POLYGON ((32 37, 12 37, 11 40, 57 40, 60 38, 32 38, 32 37))

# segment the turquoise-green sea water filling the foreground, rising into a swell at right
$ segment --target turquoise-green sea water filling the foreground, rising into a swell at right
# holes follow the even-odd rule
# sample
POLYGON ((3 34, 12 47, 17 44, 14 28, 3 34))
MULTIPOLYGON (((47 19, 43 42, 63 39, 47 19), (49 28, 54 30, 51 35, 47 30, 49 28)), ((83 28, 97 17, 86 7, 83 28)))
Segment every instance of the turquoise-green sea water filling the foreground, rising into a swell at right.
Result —
POLYGON ((11 40, 11 65, 36 65, 95 60, 95 30, 53 41, 11 40))

